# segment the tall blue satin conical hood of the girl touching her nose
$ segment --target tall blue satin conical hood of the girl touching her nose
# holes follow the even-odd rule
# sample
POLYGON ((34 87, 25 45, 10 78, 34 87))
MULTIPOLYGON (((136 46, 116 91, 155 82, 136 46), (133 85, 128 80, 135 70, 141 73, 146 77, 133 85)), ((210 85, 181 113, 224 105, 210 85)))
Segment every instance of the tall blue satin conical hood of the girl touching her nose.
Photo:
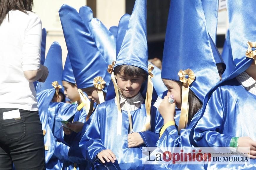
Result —
POLYGON ((190 89, 203 101, 220 79, 213 57, 201 1, 173 0, 170 4, 163 52, 162 78, 180 81, 178 72, 191 69, 190 89))

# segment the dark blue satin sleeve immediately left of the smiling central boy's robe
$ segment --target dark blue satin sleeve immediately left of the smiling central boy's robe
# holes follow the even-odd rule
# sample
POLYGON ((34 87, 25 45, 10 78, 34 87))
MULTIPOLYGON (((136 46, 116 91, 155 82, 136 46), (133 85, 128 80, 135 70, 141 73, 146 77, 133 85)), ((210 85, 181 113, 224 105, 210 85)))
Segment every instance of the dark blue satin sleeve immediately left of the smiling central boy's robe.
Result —
POLYGON ((83 156, 91 162, 96 159, 99 152, 107 149, 101 140, 100 121, 98 115, 99 112, 97 106, 93 112, 91 123, 79 143, 83 156))

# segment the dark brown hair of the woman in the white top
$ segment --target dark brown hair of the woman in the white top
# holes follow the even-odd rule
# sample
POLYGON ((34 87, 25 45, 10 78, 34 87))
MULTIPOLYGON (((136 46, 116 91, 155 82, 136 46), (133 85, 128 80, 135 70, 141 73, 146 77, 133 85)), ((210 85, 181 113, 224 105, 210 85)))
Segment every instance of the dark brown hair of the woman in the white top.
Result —
MULTIPOLYGON (((1 0, 0 1, 0 25, 4 21, 6 15, 11 10, 19 10, 27 14, 26 11, 32 11, 33 0, 1 0)), ((8 15, 9 20, 9 15, 8 15)))

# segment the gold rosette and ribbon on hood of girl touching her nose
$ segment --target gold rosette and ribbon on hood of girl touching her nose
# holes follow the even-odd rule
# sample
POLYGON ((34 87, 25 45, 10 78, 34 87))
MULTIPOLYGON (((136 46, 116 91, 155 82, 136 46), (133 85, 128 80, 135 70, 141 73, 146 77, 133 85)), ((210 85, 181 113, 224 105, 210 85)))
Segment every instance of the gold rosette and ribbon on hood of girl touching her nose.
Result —
POLYGON ((180 77, 180 81, 182 82, 182 102, 181 102, 181 112, 180 112, 180 120, 178 126, 178 132, 181 129, 187 127, 188 124, 188 92, 189 92, 189 85, 193 83, 195 80, 195 73, 190 70, 180 70, 178 73, 180 77))

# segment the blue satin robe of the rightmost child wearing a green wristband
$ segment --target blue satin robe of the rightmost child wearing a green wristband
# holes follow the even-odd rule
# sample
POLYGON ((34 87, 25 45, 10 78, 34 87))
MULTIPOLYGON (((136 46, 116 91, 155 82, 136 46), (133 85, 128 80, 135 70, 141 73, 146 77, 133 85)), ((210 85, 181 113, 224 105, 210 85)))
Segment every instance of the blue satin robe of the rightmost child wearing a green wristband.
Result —
MULTIPOLYGON (((249 136, 256 140, 256 95, 236 80, 219 85, 211 94, 194 129, 194 140, 201 147, 229 147, 232 137, 249 136)), ((212 165, 210 169, 256 169, 250 165, 212 165)))

